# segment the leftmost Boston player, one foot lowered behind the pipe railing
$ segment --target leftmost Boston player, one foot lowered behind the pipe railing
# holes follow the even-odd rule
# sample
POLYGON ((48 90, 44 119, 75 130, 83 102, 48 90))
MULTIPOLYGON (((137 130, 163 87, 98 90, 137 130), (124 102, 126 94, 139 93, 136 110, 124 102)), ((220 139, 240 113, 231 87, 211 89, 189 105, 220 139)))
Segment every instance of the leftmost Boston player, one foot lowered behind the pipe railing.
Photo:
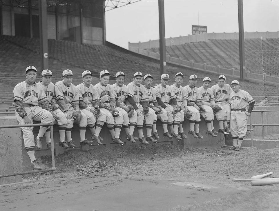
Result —
MULTIPOLYGON (((48 105, 48 99, 41 87, 35 83, 37 69, 28 66, 25 70, 26 80, 18 83, 13 91, 15 102, 15 116, 19 125, 32 124, 33 120, 41 123, 51 123, 57 116, 48 105), (41 107, 39 107, 40 105, 41 107)), ((23 132, 24 147, 31 160, 33 170, 41 170, 39 161, 35 157, 35 142, 39 143, 48 126, 40 126, 38 136, 34 141, 33 127, 21 128, 23 132)), ((37 147, 40 147, 40 144, 37 147)))

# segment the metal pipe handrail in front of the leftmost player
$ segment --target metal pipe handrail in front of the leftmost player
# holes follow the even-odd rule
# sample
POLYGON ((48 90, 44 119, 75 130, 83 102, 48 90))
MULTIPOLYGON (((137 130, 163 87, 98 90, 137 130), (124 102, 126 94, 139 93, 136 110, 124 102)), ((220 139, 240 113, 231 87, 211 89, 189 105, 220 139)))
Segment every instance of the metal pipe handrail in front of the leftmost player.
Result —
POLYGON ((35 170, 35 171, 27 171, 27 172, 18 172, 14 174, 2 174, 2 177, 12 177, 17 175, 23 174, 32 174, 32 173, 39 173, 39 172, 49 172, 52 171, 52 178, 55 178, 55 160, 54 160, 54 141, 53 141, 53 122, 52 123, 39 123, 39 124, 26 124, 26 125, 1 125, 0 129, 2 128, 24 128, 24 127, 39 127, 39 126, 50 126, 50 143, 51 143, 51 163, 52 168, 44 169, 44 170, 35 170))

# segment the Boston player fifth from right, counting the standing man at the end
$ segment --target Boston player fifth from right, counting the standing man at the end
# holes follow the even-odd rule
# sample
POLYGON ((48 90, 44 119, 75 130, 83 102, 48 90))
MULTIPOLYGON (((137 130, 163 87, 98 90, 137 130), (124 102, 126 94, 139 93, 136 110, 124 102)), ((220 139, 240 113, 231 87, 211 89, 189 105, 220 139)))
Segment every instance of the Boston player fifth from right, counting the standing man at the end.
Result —
POLYGON ((187 139, 186 134, 183 130, 183 121, 184 121, 184 113, 186 113, 188 110, 187 108, 187 99, 184 88, 181 86, 181 83, 183 82, 184 75, 182 72, 177 72, 175 74, 175 83, 171 85, 171 88, 173 89, 173 92, 176 96, 177 105, 181 106, 182 110, 180 111, 181 114, 181 120, 179 124, 179 132, 178 134, 180 137, 187 139))

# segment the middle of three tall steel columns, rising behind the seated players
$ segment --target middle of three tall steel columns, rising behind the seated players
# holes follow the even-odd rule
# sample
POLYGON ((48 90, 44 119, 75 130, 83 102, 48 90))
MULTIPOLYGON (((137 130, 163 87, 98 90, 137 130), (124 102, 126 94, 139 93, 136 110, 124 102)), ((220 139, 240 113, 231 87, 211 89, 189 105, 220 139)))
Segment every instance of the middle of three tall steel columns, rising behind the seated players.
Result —
POLYGON ((166 40, 165 40, 165 12, 164 0, 158 0, 159 5, 159 37, 160 37, 160 69, 166 73, 166 40))

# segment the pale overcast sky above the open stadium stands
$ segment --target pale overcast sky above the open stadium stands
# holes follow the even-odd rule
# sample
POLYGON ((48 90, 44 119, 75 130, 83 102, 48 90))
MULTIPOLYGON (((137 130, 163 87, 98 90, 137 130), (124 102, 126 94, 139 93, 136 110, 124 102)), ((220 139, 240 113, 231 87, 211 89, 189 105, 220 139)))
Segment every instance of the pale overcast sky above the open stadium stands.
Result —
MULTIPOLYGON (((198 20, 207 33, 238 32, 237 4, 238 0, 164 0, 165 37, 192 34, 198 20)), ((142 0, 105 15, 106 39, 118 46, 159 39, 158 0, 142 0)), ((243 20, 244 32, 279 31, 279 0, 243 0, 243 20)))

